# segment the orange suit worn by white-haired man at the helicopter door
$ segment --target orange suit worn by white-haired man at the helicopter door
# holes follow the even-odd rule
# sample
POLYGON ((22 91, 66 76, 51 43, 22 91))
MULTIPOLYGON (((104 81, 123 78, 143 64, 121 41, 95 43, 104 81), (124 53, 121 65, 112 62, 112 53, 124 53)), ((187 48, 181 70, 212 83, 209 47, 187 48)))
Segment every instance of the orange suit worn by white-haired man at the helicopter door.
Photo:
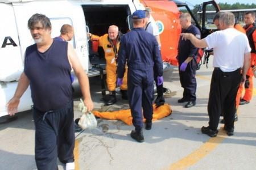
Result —
MULTIPOLYGON (((90 40, 98 39, 99 46, 104 49, 105 59, 106 59, 106 84, 108 86, 109 91, 115 91, 116 82, 117 82, 117 63, 115 61, 115 54, 118 53, 120 39, 117 38, 116 43, 116 52, 114 52, 114 48, 109 39, 108 33, 99 37, 96 35, 92 35, 90 40)), ((121 85, 121 90, 127 90, 127 68, 125 71, 125 75, 123 76, 123 84, 121 85)))

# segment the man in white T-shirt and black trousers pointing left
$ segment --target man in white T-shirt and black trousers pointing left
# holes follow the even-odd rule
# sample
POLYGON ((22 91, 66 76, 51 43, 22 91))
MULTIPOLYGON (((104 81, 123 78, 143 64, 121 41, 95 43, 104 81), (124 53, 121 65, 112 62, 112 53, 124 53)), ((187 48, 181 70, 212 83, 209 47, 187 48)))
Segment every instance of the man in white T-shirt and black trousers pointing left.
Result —
POLYGON ((235 17, 231 12, 222 12, 219 28, 205 37, 196 39, 191 33, 181 33, 198 48, 213 48, 214 58, 212 81, 208 101, 209 126, 201 131, 210 137, 216 137, 222 109, 224 111, 224 129, 228 135, 234 134, 234 113, 236 95, 240 83, 244 83, 250 67, 250 45, 244 33, 234 29, 235 17), (241 75, 242 68, 242 75, 241 75))

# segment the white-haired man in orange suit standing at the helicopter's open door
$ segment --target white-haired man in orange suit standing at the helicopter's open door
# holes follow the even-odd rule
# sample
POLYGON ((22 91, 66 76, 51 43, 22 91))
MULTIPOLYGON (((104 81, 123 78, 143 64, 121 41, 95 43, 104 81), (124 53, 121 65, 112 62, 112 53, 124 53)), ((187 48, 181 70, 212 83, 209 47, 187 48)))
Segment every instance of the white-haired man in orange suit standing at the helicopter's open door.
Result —
MULTIPOLYGON (((109 90, 109 99, 106 99, 106 105, 112 105, 117 102, 115 97, 115 87, 117 83, 117 59, 118 49, 122 33, 118 31, 116 25, 110 25, 108 33, 99 37, 88 33, 90 40, 98 39, 99 46, 102 46, 106 59, 106 84, 109 90)), ((120 86, 122 99, 127 100, 127 69, 123 78, 123 83, 120 86)))

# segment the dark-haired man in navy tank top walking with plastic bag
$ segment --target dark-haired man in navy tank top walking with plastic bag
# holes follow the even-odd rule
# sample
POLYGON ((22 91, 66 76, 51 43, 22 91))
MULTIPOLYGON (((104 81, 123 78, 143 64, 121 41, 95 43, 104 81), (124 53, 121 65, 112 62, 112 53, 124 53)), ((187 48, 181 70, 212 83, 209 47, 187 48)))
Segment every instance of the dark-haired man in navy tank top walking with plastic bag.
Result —
POLYGON ((92 111, 88 76, 72 46, 51 39, 51 22, 45 15, 32 15, 28 28, 35 44, 26 49, 24 71, 7 109, 13 116, 20 97, 30 86, 34 103, 36 166, 39 170, 57 169, 59 158, 66 169, 75 169, 71 70, 79 79, 88 111, 92 111))

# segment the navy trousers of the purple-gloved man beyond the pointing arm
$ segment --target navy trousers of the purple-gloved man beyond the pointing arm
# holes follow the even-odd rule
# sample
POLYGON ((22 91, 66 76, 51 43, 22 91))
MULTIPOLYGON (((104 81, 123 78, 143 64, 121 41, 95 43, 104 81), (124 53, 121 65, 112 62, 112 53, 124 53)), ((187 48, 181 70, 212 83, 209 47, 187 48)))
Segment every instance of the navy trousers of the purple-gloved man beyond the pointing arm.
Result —
POLYGON ((179 75, 180 84, 183 90, 183 99, 187 101, 196 101, 196 61, 192 59, 185 71, 180 71, 179 64, 179 75))

